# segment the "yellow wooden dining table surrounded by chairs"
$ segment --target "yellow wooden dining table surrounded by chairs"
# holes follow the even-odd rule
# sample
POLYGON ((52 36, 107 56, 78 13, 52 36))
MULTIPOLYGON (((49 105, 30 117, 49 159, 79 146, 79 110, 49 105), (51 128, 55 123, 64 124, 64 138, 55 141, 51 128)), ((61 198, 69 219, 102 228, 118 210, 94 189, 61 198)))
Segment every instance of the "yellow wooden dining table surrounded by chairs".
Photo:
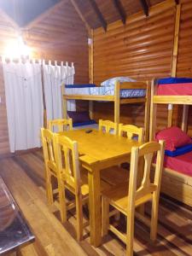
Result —
POLYGON ((142 143, 88 129, 63 131, 60 134, 79 144, 79 160, 88 171, 90 243, 98 247, 102 242, 100 171, 129 161, 131 148, 142 143))

